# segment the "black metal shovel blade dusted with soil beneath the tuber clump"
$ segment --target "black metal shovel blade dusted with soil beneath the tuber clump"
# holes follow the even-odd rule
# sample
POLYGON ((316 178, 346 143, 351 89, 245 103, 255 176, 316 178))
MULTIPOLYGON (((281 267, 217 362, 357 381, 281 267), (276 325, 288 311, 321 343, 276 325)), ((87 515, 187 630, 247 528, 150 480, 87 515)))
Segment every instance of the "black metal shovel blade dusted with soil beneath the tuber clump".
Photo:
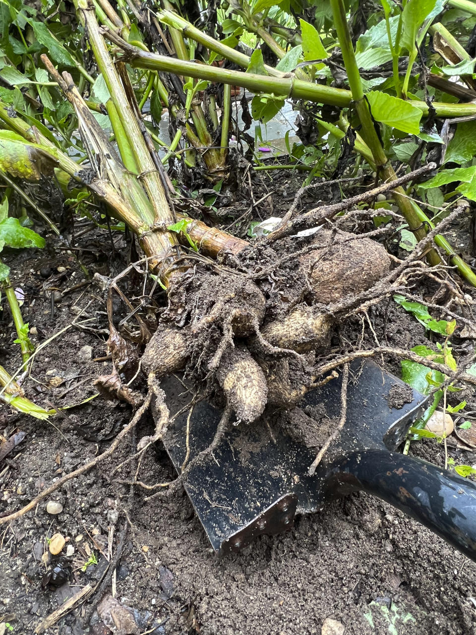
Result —
MULTIPOLYGON (((184 410, 164 435, 166 450, 180 472, 187 455, 190 392, 175 378, 163 387, 175 413, 184 410)), ((296 512, 317 511, 329 498, 326 488, 319 486, 326 479, 326 466, 356 450, 395 450, 426 399, 373 361, 352 364, 345 427, 314 476, 308 476, 308 468, 319 448, 292 427, 278 425, 279 417, 232 426, 213 454, 192 465, 185 481, 213 549, 220 554, 239 551, 261 533, 290 528, 296 512)), ((308 393, 300 406, 317 408, 328 421, 340 417, 340 404, 341 377, 308 393)), ((188 462, 210 445, 220 417, 208 403, 195 404, 189 420, 188 462)))

